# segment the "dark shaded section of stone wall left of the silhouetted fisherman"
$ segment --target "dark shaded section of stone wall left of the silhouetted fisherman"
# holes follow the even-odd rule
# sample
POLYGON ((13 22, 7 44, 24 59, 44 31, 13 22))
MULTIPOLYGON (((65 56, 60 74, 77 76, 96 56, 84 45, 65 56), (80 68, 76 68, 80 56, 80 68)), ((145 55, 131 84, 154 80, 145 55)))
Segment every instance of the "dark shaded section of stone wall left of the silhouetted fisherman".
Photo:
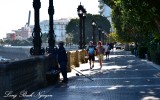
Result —
POLYGON ((19 97, 20 92, 28 93, 47 85, 46 71, 48 58, 45 56, 31 57, 26 60, 6 62, 0 64, 0 100, 9 100, 4 97, 7 92, 19 97))

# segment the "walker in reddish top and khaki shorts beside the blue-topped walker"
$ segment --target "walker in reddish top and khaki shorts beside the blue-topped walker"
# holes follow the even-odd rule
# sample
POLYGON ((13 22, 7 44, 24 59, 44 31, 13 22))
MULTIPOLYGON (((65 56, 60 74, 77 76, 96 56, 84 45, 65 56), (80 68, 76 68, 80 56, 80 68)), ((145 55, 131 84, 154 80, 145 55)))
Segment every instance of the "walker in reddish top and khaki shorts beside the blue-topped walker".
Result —
POLYGON ((104 47, 102 46, 102 42, 99 41, 97 47, 97 55, 100 64, 100 69, 102 68, 102 63, 103 63, 103 54, 104 54, 104 47))

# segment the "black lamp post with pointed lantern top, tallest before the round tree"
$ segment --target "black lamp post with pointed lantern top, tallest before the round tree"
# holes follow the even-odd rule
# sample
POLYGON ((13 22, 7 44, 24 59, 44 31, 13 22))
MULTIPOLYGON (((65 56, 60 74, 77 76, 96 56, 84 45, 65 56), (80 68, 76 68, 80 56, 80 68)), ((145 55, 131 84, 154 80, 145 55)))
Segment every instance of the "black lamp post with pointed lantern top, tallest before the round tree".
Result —
POLYGON ((80 30, 80 41, 79 41, 79 49, 82 49, 82 24, 83 24, 83 6, 80 4, 77 8, 78 16, 80 18, 79 30, 80 30))

